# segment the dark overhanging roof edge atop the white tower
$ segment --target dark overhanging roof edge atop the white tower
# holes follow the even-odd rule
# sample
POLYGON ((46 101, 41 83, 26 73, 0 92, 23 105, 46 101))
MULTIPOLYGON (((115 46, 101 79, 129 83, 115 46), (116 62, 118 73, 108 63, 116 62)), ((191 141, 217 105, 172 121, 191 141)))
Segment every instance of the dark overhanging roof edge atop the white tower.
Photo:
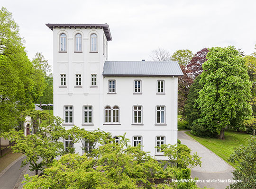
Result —
POLYGON ((110 27, 108 24, 50 24, 50 23, 47 23, 46 26, 48 26, 51 30, 54 30, 56 27, 58 28, 84 28, 84 29, 87 29, 87 28, 100 28, 100 29, 103 29, 104 30, 104 33, 107 37, 107 40, 108 41, 112 41, 112 37, 111 37, 111 34, 110 34, 110 27))

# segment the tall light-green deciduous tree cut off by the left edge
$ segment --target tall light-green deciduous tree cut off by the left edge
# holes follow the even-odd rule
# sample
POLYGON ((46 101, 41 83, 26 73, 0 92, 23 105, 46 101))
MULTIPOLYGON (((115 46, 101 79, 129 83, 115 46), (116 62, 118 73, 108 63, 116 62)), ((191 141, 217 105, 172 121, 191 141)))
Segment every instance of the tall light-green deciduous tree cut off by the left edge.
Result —
POLYGON ((18 25, 12 14, 0 9, 0 132, 18 125, 21 111, 33 108, 37 84, 18 25))

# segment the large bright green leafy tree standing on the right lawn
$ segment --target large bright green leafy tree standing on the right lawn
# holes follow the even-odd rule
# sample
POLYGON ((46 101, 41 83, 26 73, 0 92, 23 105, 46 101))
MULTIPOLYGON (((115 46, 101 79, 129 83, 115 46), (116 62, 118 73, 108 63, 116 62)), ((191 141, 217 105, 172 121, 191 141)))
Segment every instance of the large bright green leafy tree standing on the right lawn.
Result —
POLYGON ((244 59, 232 46, 213 47, 202 65, 199 97, 201 118, 196 122, 212 135, 225 128, 244 129, 243 121, 251 115, 251 82, 244 59))

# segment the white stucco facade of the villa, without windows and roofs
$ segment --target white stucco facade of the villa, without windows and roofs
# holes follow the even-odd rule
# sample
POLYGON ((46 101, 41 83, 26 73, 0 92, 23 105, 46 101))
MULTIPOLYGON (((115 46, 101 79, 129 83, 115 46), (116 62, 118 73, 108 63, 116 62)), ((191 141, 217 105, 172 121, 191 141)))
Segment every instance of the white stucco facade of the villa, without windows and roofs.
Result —
MULTIPOLYGON (((49 26, 48 26, 49 27, 49 26)), ((177 77, 159 76, 103 76, 104 62, 108 60, 108 39, 101 27, 55 27, 54 35, 54 115, 63 118, 66 129, 73 125, 110 132, 112 136, 126 134, 133 145, 134 136, 141 137, 144 151, 156 159, 165 159, 157 153, 156 137, 165 137, 165 144, 177 143, 177 77), (60 35, 66 35, 66 51, 60 51, 60 35), (76 34, 82 35, 82 51, 75 52, 76 34), (91 34, 97 35, 97 51, 91 51, 91 34), (91 86, 91 75, 96 74, 96 86, 91 86), (65 75, 64 80, 61 77, 65 75), (81 85, 77 86, 77 75, 81 85), (109 80, 115 81, 115 92, 109 92, 109 80), (134 80, 141 83, 141 93, 134 93, 134 80), (164 81, 164 93, 157 93, 157 81, 164 81), (72 121, 65 122, 65 107, 72 107, 72 121), (92 107, 91 123, 84 122, 84 106, 92 107), (106 122, 105 107, 118 106, 119 118, 106 122), (141 122, 134 123, 133 106, 141 107, 141 122), (164 108, 164 122, 157 123, 156 106, 164 108), (111 121, 112 122, 112 121, 111 121)), ((110 40, 109 40, 110 41, 110 40)), ((112 110, 111 110, 112 111, 112 110)), ((113 116, 113 112, 111 112, 113 116)), ((112 118, 111 118, 112 119, 112 118)), ((82 154, 81 144, 74 144, 82 154)))

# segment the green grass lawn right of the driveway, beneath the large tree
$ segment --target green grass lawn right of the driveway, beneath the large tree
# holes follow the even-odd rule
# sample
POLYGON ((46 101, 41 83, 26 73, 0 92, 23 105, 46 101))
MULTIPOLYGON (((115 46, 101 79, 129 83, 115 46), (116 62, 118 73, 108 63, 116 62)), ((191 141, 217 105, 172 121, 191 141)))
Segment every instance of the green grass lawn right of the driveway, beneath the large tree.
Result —
POLYGON ((220 140, 218 138, 196 137, 190 134, 190 131, 186 131, 185 133, 201 143, 203 146, 207 147, 209 150, 214 152, 233 167, 237 167, 237 164, 228 162, 229 155, 234 152, 234 147, 238 147, 240 144, 247 145, 248 139, 251 136, 245 133, 225 131, 225 140, 220 140))

